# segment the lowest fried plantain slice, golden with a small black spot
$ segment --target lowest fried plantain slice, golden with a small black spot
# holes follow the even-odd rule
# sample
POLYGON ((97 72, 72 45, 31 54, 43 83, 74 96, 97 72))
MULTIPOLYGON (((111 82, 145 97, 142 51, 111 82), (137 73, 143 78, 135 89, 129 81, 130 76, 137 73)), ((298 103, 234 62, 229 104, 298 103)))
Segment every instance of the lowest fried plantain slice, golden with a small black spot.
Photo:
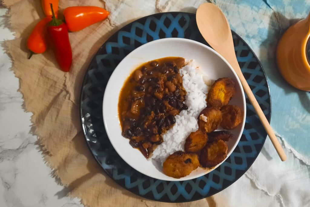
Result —
POLYGON ((162 171, 165 175, 173 178, 182 178, 189 175, 199 166, 198 155, 177 151, 168 156, 163 164, 162 171))

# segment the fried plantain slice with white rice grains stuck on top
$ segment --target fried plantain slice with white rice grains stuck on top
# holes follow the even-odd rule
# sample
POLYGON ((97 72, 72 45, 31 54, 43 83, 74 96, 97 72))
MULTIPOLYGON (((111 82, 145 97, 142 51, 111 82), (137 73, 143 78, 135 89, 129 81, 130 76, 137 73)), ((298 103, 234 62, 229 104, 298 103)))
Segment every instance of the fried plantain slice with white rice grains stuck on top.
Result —
POLYGON ((221 122, 222 112, 215 107, 203 109, 198 116, 199 129, 205 133, 216 130, 221 122))

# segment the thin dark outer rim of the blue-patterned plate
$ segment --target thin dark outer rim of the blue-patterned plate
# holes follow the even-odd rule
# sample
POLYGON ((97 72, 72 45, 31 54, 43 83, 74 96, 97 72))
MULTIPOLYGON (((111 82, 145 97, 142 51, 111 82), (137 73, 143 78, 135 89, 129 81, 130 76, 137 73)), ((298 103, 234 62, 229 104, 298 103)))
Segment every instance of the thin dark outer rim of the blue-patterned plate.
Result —
MULTIPOLYGON (((148 200, 154 200, 154 201, 166 202, 166 203, 176 203, 176 202, 175 202, 175 201, 171 201, 171 200, 170 200, 170 201, 166 201, 166 200, 155 200, 155 199, 152 199, 152 198, 146 198, 146 197, 143 197, 143 196, 138 195, 138 194, 136 194, 136 193, 133 193, 133 192, 130 191, 130 189, 128 189, 128 188, 122 186, 121 183, 118 183, 116 180, 114 180, 113 177, 112 177, 110 174, 108 174, 108 172, 102 167, 102 165, 100 164, 100 161, 99 161, 99 160, 95 157, 95 155, 92 153, 91 146, 89 145, 89 143, 88 143, 88 141, 87 141, 87 138, 86 138, 86 131, 85 131, 84 126, 83 126, 83 117, 82 117, 82 96, 83 96, 83 87, 84 87, 84 84, 85 84, 86 79, 87 79, 87 73, 88 73, 88 71, 90 70, 91 62, 92 62, 92 61, 95 59, 95 57, 99 54, 99 51, 103 48, 104 44, 105 44, 106 42, 109 42, 109 41, 112 39, 112 37, 113 37, 114 34, 118 33, 118 32, 119 32, 120 30, 122 30, 124 27, 126 27, 126 26, 132 24, 133 22, 136 22, 136 21, 141 20, 141 19, 143 19, 143 18, 147 18, 147 17, 153 16, 153 15, 158 15, 158 14, 179 14, 179 13, 181 13, 181 14, 187 14, 187 15, 196 15, 196 13, 182 12, 182 11, 158 12, 158 13, 154 13, 154 14, 151 14, 151 15, 143 16, 143 17, 141 17, 141 18, 139 18, 139 19, 133 20, 133 21, 129 22, 128 24, 122 26, 120 29, 118 29, 117 31, 115 31, 113 34, 111 34, 111 36, 110 36, 106 41, 104 41, 104 42, 102 43, 102 45, 98 48, 97 52, 92 56, 92 58, 91 58, 90 61, 89 61, 88 67, 87 67, 87 69, 85 70, 85 73, 84 73, 84 77, 83 77, 83 81, 82 81, 82 85, 81 85, 81 89, 80 89, 80 98, 79 98, 79 116, 80 116, 80 124, 81 124, 81 128, 82 128, 82 131, 83 131, 84 140, 85 140, 85 142, 86 142, 86 145, 87 145, 89 151, 91 152, 91 155, 93 156, 93 158, 95 159, 95 161, 98 163, 98 165, 100 166, 100 168, 101 168, 102 170, 104 170, 104 173, 105 173, 106 175, 108 175, 108 177, 111 178, 118 186, 122 187, 122 189, 125 189, 126 191, 132 193, 133 195, 136 195, 136 196, 139 196, 139 197, 141 197, 141 198, 148 199, 148 200)), ((269 117, 268 117, 268 119, 267 119, 268 122, 270 123, 270 121, 271 121, 271 114, 272 114, 272 107, 271 107, 271 106, 272 106, 272 102, 271 102, 270 86, 269 86, 269 83, 268 83, 268 77, 267 77, 267 75, 266 75, 266 72, 265 72, 265 70, 264 70, 264 68, 263 68, 263 65, 261 64, 260 60, 258 59, 257 55, 254 53, 254 51, 253 51, 252 48, 248 45, 248 43, 247 43, 243 38, 241 38, 236 32, 234 32, 233 30, 231 30, 231 31, 232 31, 232 35, 236 35, 236 36, 238 37, 238 39, 240 39, 240 40, 250 49, 250 51, 253 53, 253 56, 255 57, 255 59, 257 59, 257 62, 258 62, 258 64, 259 64, 259 66, 262 68, 264 77, 265 77, 265 79, 266 79, 266 84, 267 84, 268 94, 269 94, 269 99, 270 99, 270 101, 269 101, 269 102, 270 102, 270 105, 269 105, 269 114, 270 114, 270 115, 269 115, 269 117)), ((212 49, 213 49, 213 48, 212 48, 212 49)), ((261 150, 262 150, 262 148, 263 148, 263 145, 264 145, 266 139, 267 139, 267 135, 266 135, 266 138, 263 140, 262 147, 259 148, 259 150, 258 150, 258 155, 259 155, 259 153, 261 152, 261 150)), ((230 185, 232 185, 233 183, 235 183, 239 178, 241 178, 241 176, 244 175, 244 174, 246 173, 247 170, 249 170, 249 168, 251 167, 251 165, 253 165, 253 163, 255 162, 255 160, 256 160, 257 157, 258 157, 258 156, 256 156, 256 157, 254 158, 253 162, 252 162, 250 165, 248 165, 248 168, 247 168, 244 172, 242 172, 242 173, 240 174, 239 177, 236 177, 236 178, 235 178, 235 181, 234 181, 234 182, 232 182, 232 183, 230 183, 229 185, 223 187, 221 191, 223 191, 224 189, 226 189, 227 187, 229 187, 230 185)), ((174 182, 174 181, 167 181, 167 182, 174 182)), ((178 181, 175 181, 175 182, 178 182, 178 181)), ((219 191, 219 192, 220 192, 220 191, 219 191)), ((218 192, 216 192, 216 193, 218 193, 218 192)), ((212 194, 210 194, 210 195, 208 195, 208 196, 202 196, 201 198, 197 198, 197 199, 185 200, 185 201, 183 201, 183 202, 186 203, 186 202, 192 202, 192 201, 200 200, 200 199, 207 198, 207 197, 209 197, 209 196, 215 195, 216 193, 212 193, 212 194)))

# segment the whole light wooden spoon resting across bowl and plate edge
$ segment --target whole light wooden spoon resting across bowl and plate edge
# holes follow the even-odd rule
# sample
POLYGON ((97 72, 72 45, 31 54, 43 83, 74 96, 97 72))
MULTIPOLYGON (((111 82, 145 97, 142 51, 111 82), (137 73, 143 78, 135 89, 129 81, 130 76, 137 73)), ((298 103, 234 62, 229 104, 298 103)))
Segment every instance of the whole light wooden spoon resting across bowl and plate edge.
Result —
POLYGON ((274 134, 271 126, 269 125, 267 118, 265 117, 262 109, 259 107, 255 96, 250 89, 250 86, 246 82, 241 69, 239 67, 237 57, 235 55, 235 50, 232 42, 232 33, 230 30, 229 23, 223 14, 223 12, 212 3, 204 3, 199 6, 196 13, 197 26, 205 38, 205 40, 210 44, 211 47, 219 54, 221 54, 232 66, 232 68, 237 73, 243 90, 248 95, 250 102, 257 115, 259 116, 260 121, 262 122, 274 148, 277 150, 278 155, 282 161, 286 160, 286 155, 281 147, 281 144, 277 140, 276 135, 274 134))

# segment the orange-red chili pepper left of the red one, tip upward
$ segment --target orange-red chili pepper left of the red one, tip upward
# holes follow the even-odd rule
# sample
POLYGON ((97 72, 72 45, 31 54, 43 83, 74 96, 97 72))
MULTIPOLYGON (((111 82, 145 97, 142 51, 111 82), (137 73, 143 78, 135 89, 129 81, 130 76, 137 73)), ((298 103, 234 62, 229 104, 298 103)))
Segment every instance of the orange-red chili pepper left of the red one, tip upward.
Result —
MULTIPOLYGON (((43 53, 46 51, 47 43, 47 24, 52 20, 51 16, 45 17, 34 27, 28 37, 27 47, 34 53, 43 53)), ((30 56, 31 57, 31 56, 30 56)), ((30 59, 29 57, 29 59, 30 59)))

